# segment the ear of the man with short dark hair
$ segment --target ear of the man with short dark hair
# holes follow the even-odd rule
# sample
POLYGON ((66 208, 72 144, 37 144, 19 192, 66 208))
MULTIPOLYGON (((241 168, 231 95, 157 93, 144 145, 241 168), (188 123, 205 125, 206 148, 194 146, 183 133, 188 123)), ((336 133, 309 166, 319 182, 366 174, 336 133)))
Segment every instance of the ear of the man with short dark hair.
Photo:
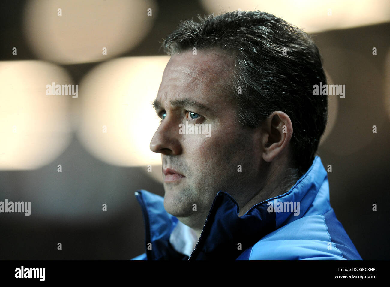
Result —
POLYGON ((271 162, 282 152, 287 152, 287 147, 293 136, 293 124, 287 114, 275 111, 262 123, 262 157, 271 162))

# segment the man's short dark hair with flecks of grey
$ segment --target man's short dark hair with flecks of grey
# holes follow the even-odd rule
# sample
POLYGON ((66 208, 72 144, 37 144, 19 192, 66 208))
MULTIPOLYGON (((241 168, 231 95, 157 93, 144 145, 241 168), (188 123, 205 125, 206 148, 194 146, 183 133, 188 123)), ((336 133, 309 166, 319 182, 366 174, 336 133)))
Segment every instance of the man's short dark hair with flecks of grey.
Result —
POLYGON ((274 111, 293 124, 293 166, 300 175, 312 164, 328 118, 326 95, 314 96, 313 86, 326 84, 322 58, 308 34, 285 20, 261 11, 198 15, 199 23, 181 21, 164 39, 168 55, 218 48, 236 57, 226 89, 236 98, 238 121, 257 127, 274 111), (238 94, 241 87, 242 94, 238 94))

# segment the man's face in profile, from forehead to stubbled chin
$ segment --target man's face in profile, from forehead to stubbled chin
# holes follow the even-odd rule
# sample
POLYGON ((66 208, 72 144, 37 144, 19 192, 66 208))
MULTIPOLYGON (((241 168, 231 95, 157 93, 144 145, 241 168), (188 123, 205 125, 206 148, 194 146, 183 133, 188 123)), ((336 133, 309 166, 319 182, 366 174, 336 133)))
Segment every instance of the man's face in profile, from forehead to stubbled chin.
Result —
POLYGON ((221 91, 233 69, 234 58, 222 53, 176 53, 155 101, 162 120, 150 148, 162 154, 164 207, 192 228, 203 227, 218 191, 241 207, 259 190, 259 133, 241 127, 237 105, 221 91), (210 134, 185 134, 179 125, 186 121, 207 125, 210 134))

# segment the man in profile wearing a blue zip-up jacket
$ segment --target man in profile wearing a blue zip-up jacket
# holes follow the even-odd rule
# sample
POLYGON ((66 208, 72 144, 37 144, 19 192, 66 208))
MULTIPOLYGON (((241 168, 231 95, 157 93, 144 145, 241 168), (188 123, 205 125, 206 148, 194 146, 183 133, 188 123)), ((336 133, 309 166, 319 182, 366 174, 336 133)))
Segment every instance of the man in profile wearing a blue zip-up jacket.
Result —
POLYGON ((184 21, 163 43, 154 108, 165 197, 136 192, 137 260, 362 259, 329 202, 315 155, 326 77, 312 39, 271 14, 184 21))

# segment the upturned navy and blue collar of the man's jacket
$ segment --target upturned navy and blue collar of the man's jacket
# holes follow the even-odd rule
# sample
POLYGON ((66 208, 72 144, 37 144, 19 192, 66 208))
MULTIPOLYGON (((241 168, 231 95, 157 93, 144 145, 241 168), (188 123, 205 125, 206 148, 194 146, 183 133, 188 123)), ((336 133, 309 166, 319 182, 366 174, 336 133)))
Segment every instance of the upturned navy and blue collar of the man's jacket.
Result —
POLYGON ((145 190, 137 191, 136 196, 144 216, 146 253, 149 260, 234 260, 265 235, 301 218, 311 209, 324 209, 316 212, 330 209, 327 173, 320 157, 316 156, 312 166, 287 193, 254 205, 241 217, 238 216, 239 207, 234 198, 219 191, 196 247, 188 256, 172 243, 180 242, 181 249, 188 250, 190 240, 193 239, 191 229, 165 211, 161 196, 145 190), (313 207, 314 201, 321 203, 317 202, 319 204, 313 207), (296 207, 299 203, 299 210, 289 209, 294 203, 296 207), (179 227, 182 230, 181 238, 173 240, 172 235, 179 233, 179 227))

